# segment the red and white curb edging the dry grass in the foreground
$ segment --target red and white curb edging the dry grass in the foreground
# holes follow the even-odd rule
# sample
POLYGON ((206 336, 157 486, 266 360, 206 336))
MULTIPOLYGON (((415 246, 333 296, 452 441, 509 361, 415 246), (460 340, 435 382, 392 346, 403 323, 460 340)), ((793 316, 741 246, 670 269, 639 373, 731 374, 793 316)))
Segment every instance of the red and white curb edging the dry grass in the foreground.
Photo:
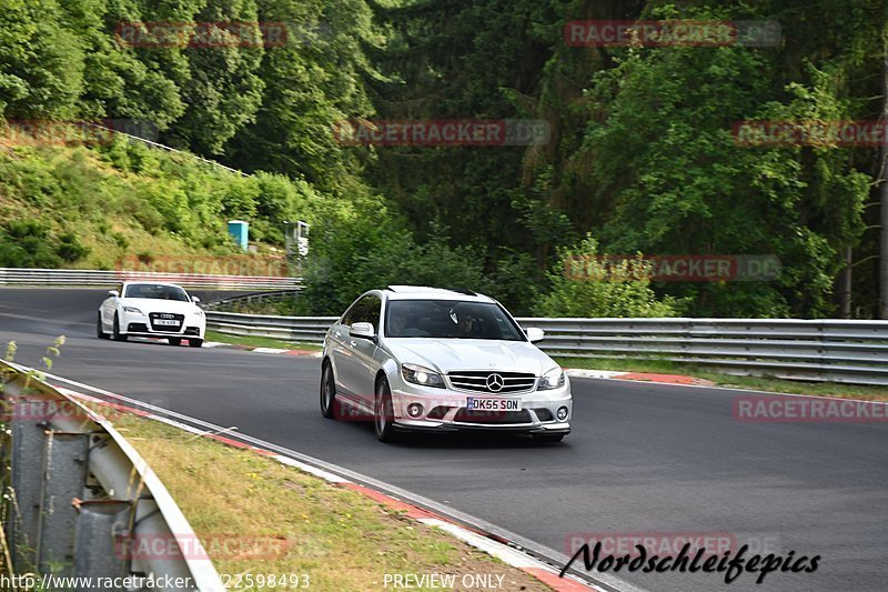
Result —
MULTIPOLYGON (((167 425, 176 428, 179 430, 183 430, 185 432, 199 437, 216 440, 223 444, 233 448, 238 448, 241 450, 249 450, 250 452, 274 460, 281 464, 285 464, 287 466, 292 466, 300 471, 314 475, 337 488, 347 489, 361 493, 362 495, 370 498, 371 500, 384 505, 385 508, 394 510, 395 512, 398 512, 402 515, 413 519, 426 526, 443 530, 444 532, 451 534, 452 536, 455 536, 456 539, 463 541, 464 543, 498 559, 500 561, 506 563, 507 565, 511 565, 512 568, 523 571, 524 573, 543 582, 544 584, 548 585, 549 588, 552 588, 557 592, 581 592, 581 591, 603 592, 601 589, 594 588, 589 584, 586 584, 585 582, 581 582, 579 580, 574 579, 569 574, 564 578, 559 576, 558 571, 555 570, 552 565, 544 563, 543 561, 539 561, 533 558, 532 555, 528 555, 527 553, 523 553, 517 549, 514 549, 513 546, 509 546, 508 544, 506 544, 507 541, 501 542, 494 540, 488 534, 482 531, 472 530, 463 524, 450 520, 444 515, 404 502, 402 500, 398 500, 396 498, 376 491, 372 488, 363 485, 361 483, 355 483, 354 481, 345 479, 344 476, 340 476, 333 472, 319 469, 317 466, 313 466, 311 464, 297 461, 295 459, 291 459, 283 454, 278 454, 270 450, 239 442, 236 440, 222 435, 221 432, 199 430, 198 428, 178 422, 170 418, 164 418, 162 415, 151 413, 150 411, 135 409, 119 403, 112 403, 107 400, 98 399, 95 397, 84 394, 78 391, 72 391, 70 389, 65 389, 60 385, 56 385, 56 389, 59 390, 60 392, 63 392, 67 395, 83 401, 105 405, 111 409, 114 409, 118 412, 132 413, 140 418, 159 421, 161 423, 165 423, 167 425)), ((108 393, 108 394, 113 394, 113 393, 108 393)), ((121 397, 121 399, 124 398, 121 397)))

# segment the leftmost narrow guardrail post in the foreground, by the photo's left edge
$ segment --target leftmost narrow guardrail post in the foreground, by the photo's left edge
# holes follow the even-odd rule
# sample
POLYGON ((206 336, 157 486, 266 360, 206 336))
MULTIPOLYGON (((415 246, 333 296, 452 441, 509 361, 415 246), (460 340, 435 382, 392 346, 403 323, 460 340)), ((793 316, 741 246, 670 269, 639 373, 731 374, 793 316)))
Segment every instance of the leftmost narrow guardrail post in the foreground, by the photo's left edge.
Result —
POLYGON ((37 564, 37 539, 40 523, 44 425, 30 419, 33 402, 10 405, 12 428, 12 492, 10 545, 16 571, 23 573, 37 564))

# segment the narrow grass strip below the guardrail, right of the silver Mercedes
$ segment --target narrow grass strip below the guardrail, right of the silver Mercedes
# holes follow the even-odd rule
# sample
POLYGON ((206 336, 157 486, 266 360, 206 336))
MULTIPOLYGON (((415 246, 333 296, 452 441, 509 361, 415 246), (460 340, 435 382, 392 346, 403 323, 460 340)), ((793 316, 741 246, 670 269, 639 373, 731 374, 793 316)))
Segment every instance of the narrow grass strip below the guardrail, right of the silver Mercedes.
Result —
POLYGON ((735 377, 723 372, 715 372, 710 368, 695 364, 682 364, 665 360, 609 360, 589 358, 556 358, 555 360, 564 368, 686 374, 710 380, 719 387, 736 387, 738 389, 781 393, 814 394, 818 397, 837 397, 842 399, 888 401, 888 387, 837 384, 835 382, 801 382, 771 377, 735 377))

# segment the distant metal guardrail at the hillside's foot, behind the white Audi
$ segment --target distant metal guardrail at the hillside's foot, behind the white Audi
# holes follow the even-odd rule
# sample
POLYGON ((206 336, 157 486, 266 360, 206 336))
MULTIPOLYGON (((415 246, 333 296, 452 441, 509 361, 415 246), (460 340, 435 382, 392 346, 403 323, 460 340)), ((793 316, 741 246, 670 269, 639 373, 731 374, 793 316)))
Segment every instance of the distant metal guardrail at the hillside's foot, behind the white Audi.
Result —
POLYGON ((123 281, 172 282, 185 288, 221 290, 297 290, 300 278, 265 275, 213 275, 127 270, 0 268, 0 285, 111 287, 123 281))

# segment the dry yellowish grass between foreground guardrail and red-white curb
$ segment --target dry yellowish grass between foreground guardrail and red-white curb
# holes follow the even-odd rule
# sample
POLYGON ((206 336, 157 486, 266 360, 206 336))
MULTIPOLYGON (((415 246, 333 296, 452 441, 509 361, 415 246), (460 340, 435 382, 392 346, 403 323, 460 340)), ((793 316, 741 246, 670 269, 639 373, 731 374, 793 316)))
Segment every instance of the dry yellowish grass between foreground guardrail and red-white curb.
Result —
POLYGON ((167 485, 221 574, 307 574, 321 591, 383 590, 386 573, 456 574, 457 583, 493 574, 504 576, 503 590, 549 590, 444 532, 253 452, 131 415, 117 428, 167 485), (229 544, 206 542, 220 539, 229 544))

